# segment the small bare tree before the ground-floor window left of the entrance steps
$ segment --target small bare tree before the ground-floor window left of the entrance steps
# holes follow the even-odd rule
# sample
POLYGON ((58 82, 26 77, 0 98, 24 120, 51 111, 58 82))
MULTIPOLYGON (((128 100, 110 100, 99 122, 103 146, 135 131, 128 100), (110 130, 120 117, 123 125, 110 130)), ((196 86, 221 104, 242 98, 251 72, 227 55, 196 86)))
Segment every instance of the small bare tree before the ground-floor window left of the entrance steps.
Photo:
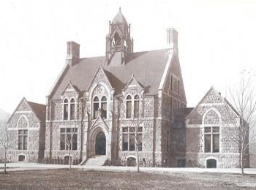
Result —
POLYGON ((64 132, 61 133, 61 136, 59 137, 61 142, 63 142, 64 150, 68 151, 69 155, 69 170, 71 170, 72 165, 72 158, 71 158, 71 151, 73 150, 73 146, 76 143, 76 146, 78 146, 78 128, 62 128, 64 129, 64 132))

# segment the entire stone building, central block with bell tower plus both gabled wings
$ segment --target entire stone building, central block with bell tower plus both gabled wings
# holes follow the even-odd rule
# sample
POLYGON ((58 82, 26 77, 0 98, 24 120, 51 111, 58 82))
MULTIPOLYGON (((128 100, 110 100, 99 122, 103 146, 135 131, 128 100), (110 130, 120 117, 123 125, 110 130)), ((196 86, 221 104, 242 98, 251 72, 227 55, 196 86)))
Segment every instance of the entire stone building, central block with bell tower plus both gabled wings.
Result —
POLYGON ((80 164, 130 165, 136 136, 143 166, 238 167, 239 148, 224 129, 232 132, 240 117, 227 99, 211 88, 187 108, 177 31, 167 29, 166 49, 136 53, 130 31, 119 10, 105 56, 80 58, 80 45, 67 42, 46 106, 22 99, 8 121, 16 145, 10 161, 55 163, 70 153, 80 164))

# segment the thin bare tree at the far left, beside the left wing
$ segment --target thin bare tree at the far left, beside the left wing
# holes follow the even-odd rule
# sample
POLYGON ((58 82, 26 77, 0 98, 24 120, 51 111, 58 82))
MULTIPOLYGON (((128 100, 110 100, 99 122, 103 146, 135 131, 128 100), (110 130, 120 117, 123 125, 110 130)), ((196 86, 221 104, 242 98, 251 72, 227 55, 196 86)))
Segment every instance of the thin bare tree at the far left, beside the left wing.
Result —
POLYGON ((7 129, 7 123, 0 123, 0 146, 4 148, 4 174, 7 174, 7 153, 13 145, 11 133, 7 129))

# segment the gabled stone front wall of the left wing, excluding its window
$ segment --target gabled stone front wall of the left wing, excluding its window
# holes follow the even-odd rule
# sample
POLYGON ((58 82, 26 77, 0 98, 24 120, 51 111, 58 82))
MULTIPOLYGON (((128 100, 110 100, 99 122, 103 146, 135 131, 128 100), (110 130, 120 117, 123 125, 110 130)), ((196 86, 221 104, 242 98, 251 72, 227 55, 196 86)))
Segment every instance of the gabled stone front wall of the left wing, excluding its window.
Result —
POLYGON ((12 136, 12 147, 8 159, 18 161, 19 154, 25 156, 26 161, 37 162, 43 158, 45 148, 45 123, 40 123, 25 99, 20 102, 8 123, 8 130, 12 136), (28 129, 27 150, 18 150, 18 130, 28 129))

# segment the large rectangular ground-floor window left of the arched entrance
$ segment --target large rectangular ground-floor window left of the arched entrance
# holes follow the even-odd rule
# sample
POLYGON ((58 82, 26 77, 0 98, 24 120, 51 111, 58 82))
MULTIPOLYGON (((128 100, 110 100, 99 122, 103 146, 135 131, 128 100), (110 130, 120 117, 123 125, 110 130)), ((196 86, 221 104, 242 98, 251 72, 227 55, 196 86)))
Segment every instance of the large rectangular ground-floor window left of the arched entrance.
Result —
POLYGON ((78 150, 78 129, 61 128, 61 150, 78 150))

